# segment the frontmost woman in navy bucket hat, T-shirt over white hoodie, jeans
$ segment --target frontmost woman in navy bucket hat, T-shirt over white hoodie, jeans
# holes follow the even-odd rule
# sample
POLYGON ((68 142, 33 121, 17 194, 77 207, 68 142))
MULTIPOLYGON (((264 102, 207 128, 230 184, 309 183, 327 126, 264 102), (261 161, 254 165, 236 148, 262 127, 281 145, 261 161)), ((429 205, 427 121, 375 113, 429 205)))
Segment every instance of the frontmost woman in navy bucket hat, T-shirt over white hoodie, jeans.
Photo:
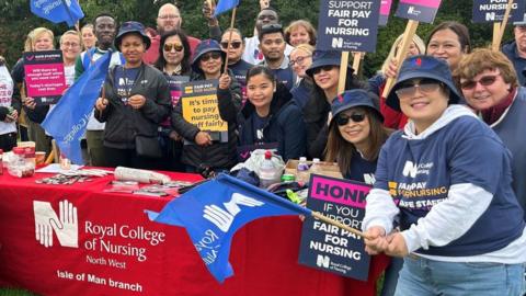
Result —
POLYGON ((404 260, 395 295, 522 295, 511 153, 459 100, 449 67, 431 56, 408 58, 386 100, 410 121, 381 148, 363 229, 366 251, 404 260))

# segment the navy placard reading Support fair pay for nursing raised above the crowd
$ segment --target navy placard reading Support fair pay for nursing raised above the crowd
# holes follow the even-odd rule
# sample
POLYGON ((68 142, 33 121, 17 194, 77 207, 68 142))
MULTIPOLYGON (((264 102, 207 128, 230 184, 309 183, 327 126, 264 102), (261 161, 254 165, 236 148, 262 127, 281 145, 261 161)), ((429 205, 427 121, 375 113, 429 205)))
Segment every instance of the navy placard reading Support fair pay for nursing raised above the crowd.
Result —
POLYGON ((377 0, 320 1, 317 48, 374 53, 379 14, 377 0))

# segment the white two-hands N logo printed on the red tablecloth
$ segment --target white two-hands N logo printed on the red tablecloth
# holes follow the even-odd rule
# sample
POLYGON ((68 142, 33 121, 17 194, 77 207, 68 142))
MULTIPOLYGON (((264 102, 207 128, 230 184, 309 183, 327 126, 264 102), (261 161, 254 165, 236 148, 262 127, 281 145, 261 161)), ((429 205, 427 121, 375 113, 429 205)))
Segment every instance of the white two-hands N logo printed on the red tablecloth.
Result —
POLYGON ((44 247, 53 247, 53 234, 62 247, 79 248, 79 219, 77 207, 68 201, 59 203, 59 215, 50 203, 33 201, 36 240, 44 247))

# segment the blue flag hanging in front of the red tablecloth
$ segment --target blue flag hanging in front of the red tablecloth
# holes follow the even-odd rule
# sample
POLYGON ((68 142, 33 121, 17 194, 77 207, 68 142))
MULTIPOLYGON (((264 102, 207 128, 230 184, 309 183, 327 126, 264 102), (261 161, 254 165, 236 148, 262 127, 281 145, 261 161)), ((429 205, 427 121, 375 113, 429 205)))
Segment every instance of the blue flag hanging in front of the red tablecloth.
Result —
POLYGON ((160 213, 147 213, 151 220, 185 227, 208 271, 220 283, 233 275, 228 254, 238 229, 262 217, 311 215, 308 208, 226 174, 174 198, 160 213))

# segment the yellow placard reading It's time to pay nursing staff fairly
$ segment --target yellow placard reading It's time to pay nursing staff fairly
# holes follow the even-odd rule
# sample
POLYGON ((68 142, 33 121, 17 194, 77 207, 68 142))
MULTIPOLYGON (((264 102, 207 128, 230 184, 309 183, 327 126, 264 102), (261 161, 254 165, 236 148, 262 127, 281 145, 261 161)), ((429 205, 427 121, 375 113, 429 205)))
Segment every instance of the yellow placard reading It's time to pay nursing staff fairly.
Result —
POLYGON ((201 130, 228 132, 228 123, 221 119, 217 105, 218 80, 184 83, 183 117, 201 130))

